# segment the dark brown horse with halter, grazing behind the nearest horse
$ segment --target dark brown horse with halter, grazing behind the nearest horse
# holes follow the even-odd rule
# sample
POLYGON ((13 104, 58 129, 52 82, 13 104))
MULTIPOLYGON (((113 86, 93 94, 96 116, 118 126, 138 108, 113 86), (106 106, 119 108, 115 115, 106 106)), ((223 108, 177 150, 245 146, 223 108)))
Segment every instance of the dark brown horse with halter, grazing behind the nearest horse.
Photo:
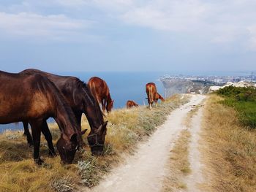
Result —
MULTIPOLYGON (((86 118, 89 121, 89 125, 91 127, 91 131, 89 133, 89 136, 87 137, 89 145, 91 147, 91 153, 94 155, 99 155, 103 153, 103 146, 107 131, 106 126, 108 121, 104 122, 103 114, 100 110, 99 104, 94 99, 94 96, 92 96, 91 91, 89 91, 86 83, 80 81, 76 77, 59 76, 56 74, 42 72, 37 69, 26 69, 20 73, 41 74, 42 76, 47 77, 51 82, 53 82, 56 87, 59 88, 59 91, 63 93, 64 98, 67 100, 67 103, 72 108, 72 111, 75 114, 75 118, 78 121, 78 131, 81 130, 81 116, 83 113, 86 115, 86 118)), ((45 126, 47 126, 47 123, 45 123, 45 126)), ((28 128, 27 132, 29 134, 28 128)))

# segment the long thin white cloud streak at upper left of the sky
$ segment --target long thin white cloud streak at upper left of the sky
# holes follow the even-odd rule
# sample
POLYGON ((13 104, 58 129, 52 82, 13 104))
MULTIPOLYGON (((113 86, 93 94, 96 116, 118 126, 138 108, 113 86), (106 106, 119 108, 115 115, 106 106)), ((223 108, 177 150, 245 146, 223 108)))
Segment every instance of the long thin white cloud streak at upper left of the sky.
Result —
POLYGON ((65 15, 0 12, 0 18, 0 33, 12 37, 72 38, 91 26, 89 20, 74 20, 65 15))

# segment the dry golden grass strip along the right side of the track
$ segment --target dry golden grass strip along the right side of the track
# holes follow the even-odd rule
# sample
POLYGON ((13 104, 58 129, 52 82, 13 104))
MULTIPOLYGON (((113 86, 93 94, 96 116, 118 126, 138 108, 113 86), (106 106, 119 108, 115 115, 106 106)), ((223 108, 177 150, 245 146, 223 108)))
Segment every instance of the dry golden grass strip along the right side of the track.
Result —
POLYGON ((239 110, 212 95, 203 122, 203 153, 211 191, 256 191, 256 130, 239 123, 239 110))

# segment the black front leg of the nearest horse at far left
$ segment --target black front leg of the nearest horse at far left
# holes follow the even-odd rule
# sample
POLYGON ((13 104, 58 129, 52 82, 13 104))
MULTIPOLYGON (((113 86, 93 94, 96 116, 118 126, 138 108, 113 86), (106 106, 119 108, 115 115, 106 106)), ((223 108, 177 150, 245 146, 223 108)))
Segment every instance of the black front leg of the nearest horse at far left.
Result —
POLYGON ((29 123, 31 125, 32 136, 34 141, 34 162, 38 165, 42 165, 43 161, 41 158, 39 158, 42 120, 31 120, 29 123))

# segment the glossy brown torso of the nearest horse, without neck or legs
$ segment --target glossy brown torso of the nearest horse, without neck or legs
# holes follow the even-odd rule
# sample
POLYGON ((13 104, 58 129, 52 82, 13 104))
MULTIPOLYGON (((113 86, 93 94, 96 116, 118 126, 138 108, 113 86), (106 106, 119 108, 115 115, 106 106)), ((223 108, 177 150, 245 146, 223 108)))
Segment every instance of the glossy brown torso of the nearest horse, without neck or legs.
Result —
POLYGON ((44 77, 0 72, 0 82, 1 123, 46 118, 44 116, 52 111, 53 103, 44 77))

